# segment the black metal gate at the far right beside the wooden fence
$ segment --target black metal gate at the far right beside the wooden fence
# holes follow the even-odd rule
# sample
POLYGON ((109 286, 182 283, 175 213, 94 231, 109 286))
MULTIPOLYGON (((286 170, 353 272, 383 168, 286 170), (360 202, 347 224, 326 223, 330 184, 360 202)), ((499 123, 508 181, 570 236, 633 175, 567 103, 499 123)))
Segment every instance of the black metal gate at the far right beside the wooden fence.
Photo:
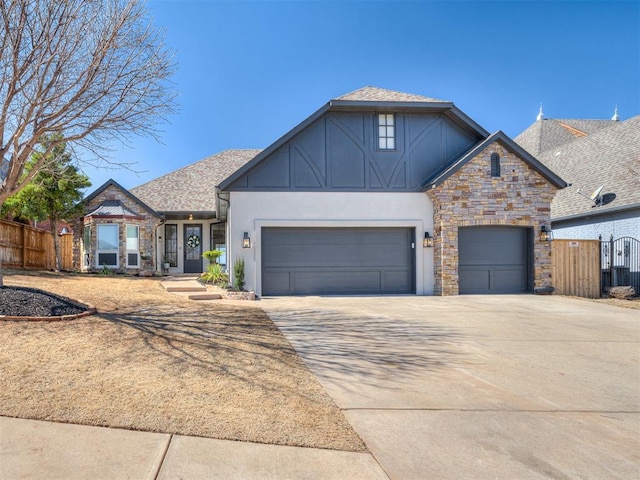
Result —
POLYGON ((602 293, 609 287, 631 285, 640 294, 640 240, 621 237, 602 240, 600 237, 602 293))

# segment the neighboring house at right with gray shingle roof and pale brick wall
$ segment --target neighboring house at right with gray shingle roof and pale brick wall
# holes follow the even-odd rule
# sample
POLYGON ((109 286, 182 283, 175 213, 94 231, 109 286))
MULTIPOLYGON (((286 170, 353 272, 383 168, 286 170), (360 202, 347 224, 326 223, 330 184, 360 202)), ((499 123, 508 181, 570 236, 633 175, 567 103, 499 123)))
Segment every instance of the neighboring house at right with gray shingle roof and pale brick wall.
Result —
POLYGON ((538 120, 515 138, 570 187, 551 204, 555 238, 640 239, 640 116, 538 120), (593 198, 592 198, 593 197, 593 198))

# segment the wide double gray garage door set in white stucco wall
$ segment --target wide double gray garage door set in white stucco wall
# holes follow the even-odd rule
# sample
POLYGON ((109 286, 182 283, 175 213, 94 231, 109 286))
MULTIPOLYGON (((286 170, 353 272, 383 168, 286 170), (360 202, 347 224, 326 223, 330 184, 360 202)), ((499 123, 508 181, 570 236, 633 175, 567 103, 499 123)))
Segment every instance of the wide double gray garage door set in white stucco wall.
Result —
POLYGON ((263 228, 263 295, 415 293, 411 228, 263 228))

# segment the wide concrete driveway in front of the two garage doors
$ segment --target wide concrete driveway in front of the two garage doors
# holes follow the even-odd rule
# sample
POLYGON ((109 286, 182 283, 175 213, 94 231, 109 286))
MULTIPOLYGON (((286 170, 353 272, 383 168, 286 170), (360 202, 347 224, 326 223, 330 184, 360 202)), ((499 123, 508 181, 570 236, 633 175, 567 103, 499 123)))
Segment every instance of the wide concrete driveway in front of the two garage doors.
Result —
POLYGON ((640 312, 553 296, 261 306, 391 479, 640 478, 640 312))

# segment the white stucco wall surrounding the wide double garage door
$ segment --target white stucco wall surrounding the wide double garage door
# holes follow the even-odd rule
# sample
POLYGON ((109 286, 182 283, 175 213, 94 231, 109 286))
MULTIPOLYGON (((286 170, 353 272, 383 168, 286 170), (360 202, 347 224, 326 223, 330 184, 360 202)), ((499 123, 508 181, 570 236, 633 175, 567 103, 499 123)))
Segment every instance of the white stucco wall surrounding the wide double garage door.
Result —
POLYGON ((232 192, 229 207, 229 270, 245 260, 247 290, 261 295, 263 227, 411 227, 416 230, 416 293, 433 295, 433 249, 422 247, 433 235, 433 204, 424 193, 232 192), (242 248, 248 232, 251 248, 242 248))

